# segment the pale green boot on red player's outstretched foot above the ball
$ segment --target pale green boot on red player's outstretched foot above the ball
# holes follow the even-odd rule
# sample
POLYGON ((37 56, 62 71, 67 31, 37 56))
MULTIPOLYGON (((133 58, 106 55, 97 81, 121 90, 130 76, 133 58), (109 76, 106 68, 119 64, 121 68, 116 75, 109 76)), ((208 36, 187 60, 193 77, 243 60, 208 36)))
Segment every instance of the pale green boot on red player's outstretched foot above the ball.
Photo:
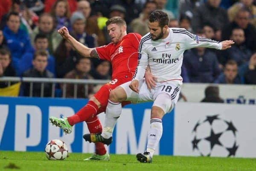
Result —
POLYGON ((64 133, 71 133, 72 132, 72 126, 68 123, 67 118, 55 118, 51 116, 49 118, 52 125, 55 125, 59 128, 61 128, 64 133))

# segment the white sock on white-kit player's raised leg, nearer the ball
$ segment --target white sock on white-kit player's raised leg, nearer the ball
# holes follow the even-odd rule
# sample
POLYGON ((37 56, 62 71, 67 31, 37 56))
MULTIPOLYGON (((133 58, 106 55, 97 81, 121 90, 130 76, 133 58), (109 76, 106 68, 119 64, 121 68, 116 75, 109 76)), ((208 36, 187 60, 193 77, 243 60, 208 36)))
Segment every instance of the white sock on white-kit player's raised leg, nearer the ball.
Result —
POLYGON ((106 139, 110 138, 113 134, 113 129, 116 125, 116 121, 122 113, 122 104, 114 103, 108 100, 108 106, 106 108, 105 123, 102 129, 102 136, 106 139))

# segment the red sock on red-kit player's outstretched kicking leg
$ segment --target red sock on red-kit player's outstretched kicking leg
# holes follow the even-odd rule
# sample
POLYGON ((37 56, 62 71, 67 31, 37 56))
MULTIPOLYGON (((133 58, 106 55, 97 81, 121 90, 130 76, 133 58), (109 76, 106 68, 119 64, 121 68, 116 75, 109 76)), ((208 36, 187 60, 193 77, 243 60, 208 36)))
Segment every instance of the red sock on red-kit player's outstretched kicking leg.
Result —
POLYGON ((98 106, 93 101, 88 101, 88 103, 81 108, 75 115, 67 118, 68 123, 73 126, 76 123, 86 121, 88 118, 96 116, 98 113, 98 106))

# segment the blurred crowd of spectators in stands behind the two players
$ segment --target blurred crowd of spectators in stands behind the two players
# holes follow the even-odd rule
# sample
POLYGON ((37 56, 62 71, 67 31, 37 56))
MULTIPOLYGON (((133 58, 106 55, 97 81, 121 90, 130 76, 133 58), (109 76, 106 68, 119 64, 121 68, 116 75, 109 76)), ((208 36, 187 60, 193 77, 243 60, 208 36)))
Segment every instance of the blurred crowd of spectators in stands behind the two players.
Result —
MULTIPOLYGON (((111 79, 108 61, 80 56, 57 30, 66 26, 77 41, 93 48, 111 42, 108 18, 124 18, 128 33, 143 36, 156 9, 168 13, 169 27, 235 42, 225 51, 187 50, 183 82, 256 84, 255 0, 1 0, 0 76, 111 79)), ((7 86, 0 82, 0 88, 7 86)), ((29 96, 29 86, 23 84, 22 95, 29 96)), ((51 96, 51 84, 44 86, 44 96, 51 96)), ((67 97, 73 97, 73 87, 67 85, 67 97)), ((41 84, 35 84, 33 96, 40 96, 40 89, 41 84)), ((78 90, 79 98, 87 98, 83 85, 78 90)), ((97 87, 88 90, 93 94, 97 87)))

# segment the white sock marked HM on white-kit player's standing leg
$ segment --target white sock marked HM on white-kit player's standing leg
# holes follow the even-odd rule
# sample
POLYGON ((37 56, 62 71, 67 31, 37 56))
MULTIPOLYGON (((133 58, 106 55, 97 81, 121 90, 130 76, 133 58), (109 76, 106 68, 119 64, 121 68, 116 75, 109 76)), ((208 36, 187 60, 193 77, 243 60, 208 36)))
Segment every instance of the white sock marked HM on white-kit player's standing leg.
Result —
POLYGON ((163 125, 162 119, 152 118, 150 119, 150 130, 148 131, 148 145, 147 152, 151 155, 154 154, 154 151, 157 148, 157 145, 163 134, 163 125))

